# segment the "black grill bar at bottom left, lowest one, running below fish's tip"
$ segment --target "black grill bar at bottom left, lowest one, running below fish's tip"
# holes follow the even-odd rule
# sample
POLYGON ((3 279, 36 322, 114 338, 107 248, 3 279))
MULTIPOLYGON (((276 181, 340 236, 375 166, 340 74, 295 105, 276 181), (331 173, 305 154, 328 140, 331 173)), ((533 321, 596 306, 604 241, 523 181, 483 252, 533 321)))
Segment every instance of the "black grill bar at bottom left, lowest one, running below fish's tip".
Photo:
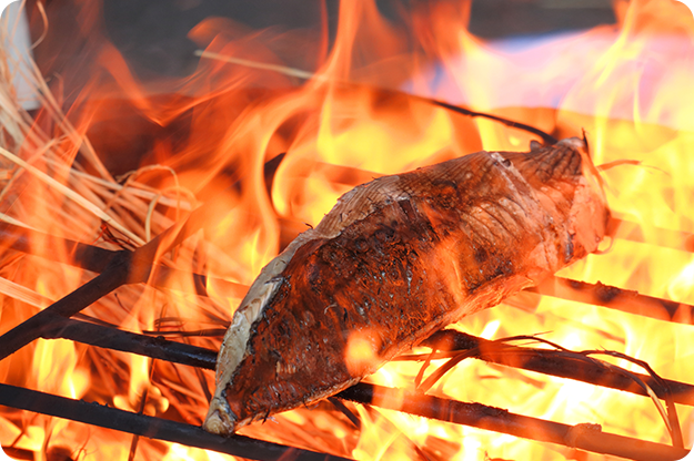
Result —
POLYGON ((67 399, 3 383, 0 383, 0 404, 252 460, 348 460, 346 458, 265 442, 243 436, 224 438, 205 432, 192 424, 148 417, 99 403, 88 403, 82 400, 67 399))

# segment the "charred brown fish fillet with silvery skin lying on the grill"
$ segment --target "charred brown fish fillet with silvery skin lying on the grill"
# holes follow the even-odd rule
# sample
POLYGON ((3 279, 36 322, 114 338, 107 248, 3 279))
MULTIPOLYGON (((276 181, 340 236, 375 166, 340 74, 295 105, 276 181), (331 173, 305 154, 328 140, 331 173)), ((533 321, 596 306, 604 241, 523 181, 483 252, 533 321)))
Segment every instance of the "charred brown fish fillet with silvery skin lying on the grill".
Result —
POLYGON ((348 388, 594 252, 608 216, 577 139, 353 188, 249 289, 219 352, 204 429, 231 434, 348 388))

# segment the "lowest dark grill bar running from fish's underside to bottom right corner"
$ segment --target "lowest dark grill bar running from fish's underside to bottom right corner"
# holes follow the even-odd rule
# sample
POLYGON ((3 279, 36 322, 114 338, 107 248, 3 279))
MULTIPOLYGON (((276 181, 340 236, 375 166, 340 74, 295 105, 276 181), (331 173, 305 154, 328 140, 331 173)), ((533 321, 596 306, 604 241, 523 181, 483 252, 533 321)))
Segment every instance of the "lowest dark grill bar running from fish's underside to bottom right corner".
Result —
POLYGON ((599 424, 569 426, 511 413, 507 410, 481 403, 464 403, 403 389, 362 382, 340 392, 336 397, 410 414, 636 461, 694 461, 694 451, 602 432, 599 424))

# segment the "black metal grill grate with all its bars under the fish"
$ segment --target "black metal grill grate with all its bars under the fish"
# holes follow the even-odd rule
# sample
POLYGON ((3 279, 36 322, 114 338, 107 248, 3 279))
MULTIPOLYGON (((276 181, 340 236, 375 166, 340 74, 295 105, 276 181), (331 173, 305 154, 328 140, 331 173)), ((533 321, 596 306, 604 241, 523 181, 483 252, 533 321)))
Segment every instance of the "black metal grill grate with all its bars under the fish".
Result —
MULTIPOLYGON (((190 228, 188 232, 194 232, 194 229, 190 228)), ((29 245, 21 236, 20 228, 7 225, 2 229, 2 235, 14 242, 14 249, 30 250, 29 245)), ((63 338, 191 367, 214 369, 217 360, 214 350, 167 340, 162 336, 157 336, 159 335, 157 332, 153 335, 140 335, 112 326, 86 321, 83 319, 89 319, 89 317, 79 314, 89 304, 119 286, 148 279, 152 269, 155 269, 155 274, 150 280, 154 280, 155 285, 165 286, 167 270, 172 269, 153 265, 153 258, 151 257, 153 253, 151 247, 148 247, 150 245, 155 247, 165 237, 164 233, 154 244, 148 244, 134 252, 110 252, 77 242, 60 242, 73 248, 73 254, 76 255, 73 264, 90 270, 100 272, 100 274, 63 299, 1 336, 0 358, 10 356, 37 338, 63 338), (72 316, 81 316, 83 319, 70 318, 72 316)), ((51 238, 56 239, 54 237, 51 238)), ((180 242, 180 238, 170 239, 169 245, 180 242)), ((199 287, 198 294, 205 295, 204 289, 200 288, 205 286, 204 276, 195 277, 201 278, 201 283, 195 284, 199 287)), ((239 289, 243 289, 243 287, 239 286, 239 289)), ((694 309, 694 307, 688 305, 647 297, 634 291, 557 277, 533 288, 531 291, 534 294, 533 296, 556 296, 564 299, 589 301, 620 310, 665 318, 671 321, 686 322, 687 319, 692 318, 691 313, 694 309)), ((220 332, 212 331, 212 334, 220 332)), ((616 367, 606 366, 604 362, 567 350, 517 347, 504 340, 489 341, 452 330, 435 334, 428 340, 428 346, 439 350, 436 358, 451 358, 456 355, 463 358, 474 357, 489 362, 581 380, 595 386, 608 387, 642 396, 647 396, 647 390, 652 389, 658 398, 666 400, 668 403, 694 404, 694 386, 692 385, 664 380, 656 376, 625 372, 616 367), (645 387, 638 386, 640 381, 645 383, 645 387)), ((430 356, 429 358, 431 359, 432 357, 430 356)), ((412 360, 422 359, 422 357, 404 356, 400 359, 412 360)), ((409 392, 401 389, 359 383, 339 393, 336 397, 363 404, 395 409, 411 414, 473 426, 532 440, 560 443, 626 459, 657 461, 662 459, 694 460, 694 451, 605 433, 596 424, 567 426, 510 413, 506 410, 480 403, 463 403, 425 396, 421 392, 409 392), (390 404, 389 407, 389 402, 404 403, 398 407, 390 404)), ((204 432, 195 426, 128 412, 98 403, 71 400, 9 385, 0 385, 0 404, 251 459, 343 459, 241 436, 221 438, 204 432)), ((675 444, 681 443, 680 438, 680 442, 675 444)))

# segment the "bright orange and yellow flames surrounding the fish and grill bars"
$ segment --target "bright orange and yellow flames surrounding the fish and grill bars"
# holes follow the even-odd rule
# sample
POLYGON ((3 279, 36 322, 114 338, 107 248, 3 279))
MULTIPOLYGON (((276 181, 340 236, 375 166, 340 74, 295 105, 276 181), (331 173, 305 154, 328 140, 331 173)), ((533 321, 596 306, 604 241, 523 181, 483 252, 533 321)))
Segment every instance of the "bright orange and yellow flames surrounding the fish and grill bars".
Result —
MULTIPOLYGON (((100 31, 94 2, 76 1, 80 33, 90 44, 86 68, 63 70, 61 79, 46 83, 38 69, 30 63, 18 68, 16 58, 0 50, 0 219, 26 228, 31 246, 22 254, 9 240, 0 242, 0 334, 93 277, 71 267, 74 254, 51 238, 132 248, 181 223, 201 203, 215 204, 214 213, 199 216, 215 223, 213 230, 194 234, 161 255, 161 263, 208 275, 209 297, 194 295, 192 278, 177 276, 169 280, 172 289, 127 286, 83 314, 173 338, 181 330, 223 329, 242 288, 351 187, 482 148, 525 150, 535 139, 409 93, 465 104, 562 137, 585 130, 597 165, 640 162, 602 175, 611 208, 637 224, 643 243, 615 238, 605 254, 591 255, 560 275, 694 304, 694 258, 681 238, 694 232, 688 213, 694 194, 694 163, 688 161, 694 146, 688 91, 694 7, 668 0, 616 1, 615 7, 620 23, 614 27, 512 49, 512 43, 485 42, 466 31, 466 2, 415 8, 405 30, 382 17, 375 1, 343 1, 334 43, 325 30, 321 40, 301 42, 311 55, 305 69, 291 69, 294 64, 275 51, 282 40, 300 40, 299 33, 251 32, 208 19, 190 32, 204 48, 194 73, 139 82, 100 31), (41 89, 34 93, 41 105, 34 119, 19 109, 12 72, 41 89), (132 123, 121 125, 119 119, 132 123), (128 155, 132 141, 147 137, 148 130, 161 136, 139 153, 134 166, 118 165, 115 157, 128 155)), ((42 27, 39 13, 37 28, 42 27)), ((74 45, 48 27, 37 55, 74 45)), ((690 325, 521 295, 453 328, 489 339, 542 334, 570 349, 617 350, 668 379, 694 382, 694 372, 684 366, 691 360, 690 325)), ((220 342, 214 336, 181 340, 210 349, 219 349, 220 342)), ((355 366, 372 359, 373 341, 359 335, 350 340, 355 366)), ((430 369, 441 363, 434 360, 430 369)), ((369 381, 412 390, 420 368, 394 361, 369 381)), ((200 424, 214 376, 39 339, 0 362, 0 382, 200 424)), ((530 371, 465 360, 431 393, 569 424, 597 422, 604 431, 670 443, 650 399, 530 371)), ((320 403, 242 433, 360 460, 579 457, 570 448, 348 407, 359 416, 360 430, 329 403, 320 403)), ((4 407, 1 411, 0 450, 61 452, 72 459, 129 457, 131 436, 4 407)), ((685 407, 678 412, 685 444, 693 447, 694 417, 685 407)), ((227 459, 144 438, 137 450, 141 458, 227 459)), ((8 453, 8 459, 18 457, 8 453)))

